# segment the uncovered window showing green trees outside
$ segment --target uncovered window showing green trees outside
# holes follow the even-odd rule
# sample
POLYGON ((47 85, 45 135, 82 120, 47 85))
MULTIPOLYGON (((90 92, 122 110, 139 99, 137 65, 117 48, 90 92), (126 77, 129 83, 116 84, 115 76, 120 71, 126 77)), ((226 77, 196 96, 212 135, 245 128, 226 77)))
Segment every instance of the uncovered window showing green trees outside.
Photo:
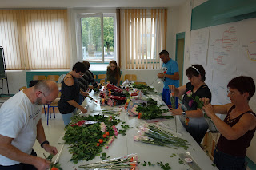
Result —
POLYGON ((115 14, 78 14, 78 55, 98 63, 116 59, 115 14))

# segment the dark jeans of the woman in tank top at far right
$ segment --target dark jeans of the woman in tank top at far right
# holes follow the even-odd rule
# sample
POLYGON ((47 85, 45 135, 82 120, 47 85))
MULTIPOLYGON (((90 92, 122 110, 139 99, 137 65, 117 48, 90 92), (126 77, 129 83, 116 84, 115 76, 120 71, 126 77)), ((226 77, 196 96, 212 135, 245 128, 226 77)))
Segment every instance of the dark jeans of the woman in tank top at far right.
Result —
POLYGON ((246 170, 244 156, 231 156, 216 148, 214 150, 214 164, 219 170, 246 170))

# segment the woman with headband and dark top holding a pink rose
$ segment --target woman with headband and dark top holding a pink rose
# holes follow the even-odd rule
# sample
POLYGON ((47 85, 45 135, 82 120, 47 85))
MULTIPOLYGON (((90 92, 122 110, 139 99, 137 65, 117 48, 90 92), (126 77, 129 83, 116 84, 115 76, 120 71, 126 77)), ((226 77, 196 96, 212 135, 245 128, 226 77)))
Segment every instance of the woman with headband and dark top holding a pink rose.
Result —
POLYGON ((183 96, 182 109, 170 109, 173 115, 181 115, 180 121, 186 131, 200 145, 203 137, 208 129, 208 123, 203 117, 202 110, 198 108, 198 104, 192 100, 186 93, 191 90, 192 97, 199 98, 207 97, 211 100, 210 89, 205 83, 206 71, 202 65, 192 65, 186 69, 186 76, 190 80, 186 85, 176 88, 174 85, 169 85, 170 90, 175 96, 183 96))

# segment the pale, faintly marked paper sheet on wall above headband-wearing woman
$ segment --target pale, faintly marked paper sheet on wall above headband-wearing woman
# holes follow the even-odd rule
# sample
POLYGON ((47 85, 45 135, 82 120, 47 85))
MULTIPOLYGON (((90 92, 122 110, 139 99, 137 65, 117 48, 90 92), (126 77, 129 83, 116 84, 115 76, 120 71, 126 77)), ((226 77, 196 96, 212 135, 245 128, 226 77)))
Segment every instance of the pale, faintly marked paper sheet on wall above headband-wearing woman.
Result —
POLYGON ((190 63, 192 65, 206 65, 209 40, 209 27, 191 31, 190 63))

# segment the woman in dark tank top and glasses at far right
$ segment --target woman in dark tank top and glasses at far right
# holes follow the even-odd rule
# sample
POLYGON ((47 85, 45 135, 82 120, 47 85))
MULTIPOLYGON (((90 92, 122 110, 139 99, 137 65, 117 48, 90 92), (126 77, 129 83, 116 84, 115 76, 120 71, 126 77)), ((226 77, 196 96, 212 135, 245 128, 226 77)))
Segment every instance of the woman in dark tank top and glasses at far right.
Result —
POLYGON ((251 77, 240 76, 232 79, 227 87, 231 103, 210 105, 209 99, 203 98, 202 109, 221 133, 214 150, 214 164, 220 170, 244 170, 246 148, 250 146, 256 129, 256 114, 249 105, 255 93, 255 84, 251 77), (224 121, 215 113, 226 114, 224 121))

